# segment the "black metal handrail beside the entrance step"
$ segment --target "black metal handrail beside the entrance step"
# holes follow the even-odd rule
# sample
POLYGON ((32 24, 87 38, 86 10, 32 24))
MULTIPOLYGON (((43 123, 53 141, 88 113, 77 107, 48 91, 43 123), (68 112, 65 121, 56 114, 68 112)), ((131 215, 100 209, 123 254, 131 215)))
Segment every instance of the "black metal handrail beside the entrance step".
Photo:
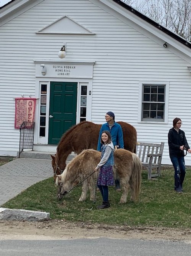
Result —
POLYGON ((20 128, 19 138, 19 157, 24 149, 32 149, 34 147, 34 122, 24 121, 20 128))

